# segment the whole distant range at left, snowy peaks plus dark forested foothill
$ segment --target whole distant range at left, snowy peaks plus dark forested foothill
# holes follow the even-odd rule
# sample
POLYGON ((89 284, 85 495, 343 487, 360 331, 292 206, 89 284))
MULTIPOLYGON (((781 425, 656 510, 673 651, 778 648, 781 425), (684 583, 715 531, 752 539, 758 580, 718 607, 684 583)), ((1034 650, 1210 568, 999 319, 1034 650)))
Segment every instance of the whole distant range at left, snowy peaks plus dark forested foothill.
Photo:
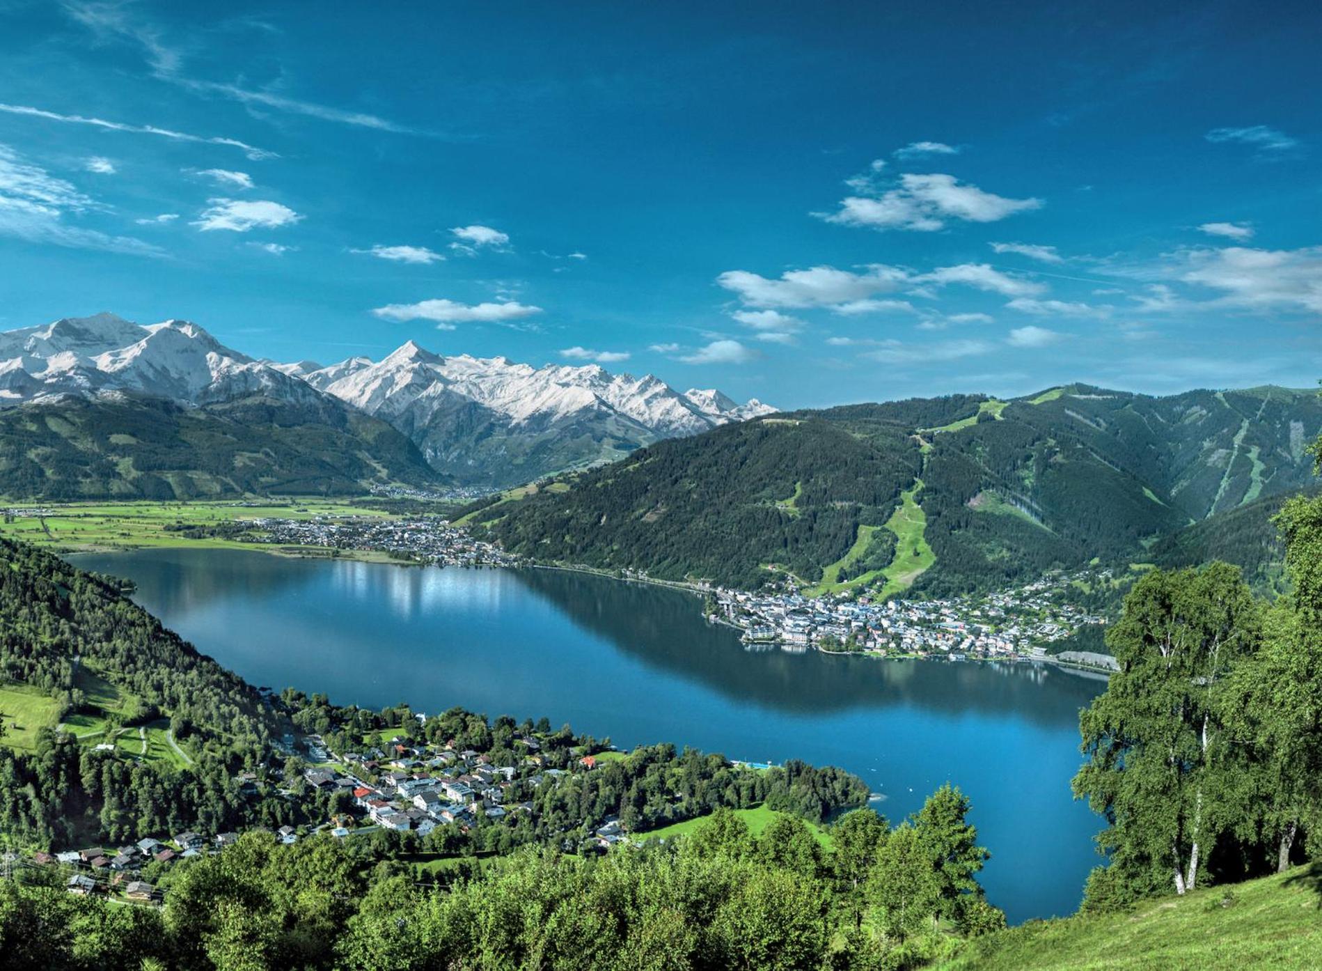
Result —
POLYGON ((391 482, 500 488, 773 410, 717 390, 681 394, 650 374, 442 357, 412 341, 381 361, 280 364, 185 320, 140 325, 114 314, 0 333, 5 405, 0 489, 46 497, 271 491, 315 480, 330 454, 361 459, 324 470, 332 491, 391 482), (254 402, 271 421, 225 427, 239 410, 251 418, 254 402), (157 422, 171 415, 149 448, 119 427, 140 427, 143 409, 157 422), (221 450, 229 458, 201 462, 175 448, 185 426, 194 438, 233 441, 221 450), (287 434, 274 441, 259 429, 287 434), (307 442, 328 451, 309 464, 299 455, 307 442), (79 471, 89 464, 95 471, 79 471))

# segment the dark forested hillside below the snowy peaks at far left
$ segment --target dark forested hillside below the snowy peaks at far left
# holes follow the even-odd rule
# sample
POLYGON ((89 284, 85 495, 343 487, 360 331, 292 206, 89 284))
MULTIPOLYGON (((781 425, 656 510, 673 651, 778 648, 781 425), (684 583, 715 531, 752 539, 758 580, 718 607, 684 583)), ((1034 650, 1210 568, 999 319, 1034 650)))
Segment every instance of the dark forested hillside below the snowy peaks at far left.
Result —
POLYGON ((0 410, 0 495, 202 499, 438 486, 416 447, 333 400, 63 398, 0 410))

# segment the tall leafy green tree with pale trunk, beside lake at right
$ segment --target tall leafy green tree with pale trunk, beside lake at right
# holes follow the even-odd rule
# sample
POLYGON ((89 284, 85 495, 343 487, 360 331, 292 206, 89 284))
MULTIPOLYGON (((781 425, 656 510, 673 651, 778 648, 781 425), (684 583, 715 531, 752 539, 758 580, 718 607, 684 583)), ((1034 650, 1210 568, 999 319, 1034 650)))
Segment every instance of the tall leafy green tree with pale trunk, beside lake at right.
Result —
POLYGON ((1183 894, 1218 836, 1243 823, 1247 755, 1219 698, 1259 626, 1259 606, 1225 564, 1153 571, 1125 598, 1107 636, 1120 671, 1080 716, 1088 761, 1073 791, 1110 824, 1101 849, 1126 882, 1170 880, 1183 894))

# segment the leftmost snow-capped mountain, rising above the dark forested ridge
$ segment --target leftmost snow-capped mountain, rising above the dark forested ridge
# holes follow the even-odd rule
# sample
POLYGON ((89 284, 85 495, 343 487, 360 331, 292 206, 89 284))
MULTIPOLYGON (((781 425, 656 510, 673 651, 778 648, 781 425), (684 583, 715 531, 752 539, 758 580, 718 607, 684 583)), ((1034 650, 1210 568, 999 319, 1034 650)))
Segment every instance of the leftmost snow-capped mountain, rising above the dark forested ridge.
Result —
POLYGON ((114 314, 0 333, 0 403, 130 392, 188 405, 271 394, 311 402, 304 382, 231 351, 197 324, 114 314))

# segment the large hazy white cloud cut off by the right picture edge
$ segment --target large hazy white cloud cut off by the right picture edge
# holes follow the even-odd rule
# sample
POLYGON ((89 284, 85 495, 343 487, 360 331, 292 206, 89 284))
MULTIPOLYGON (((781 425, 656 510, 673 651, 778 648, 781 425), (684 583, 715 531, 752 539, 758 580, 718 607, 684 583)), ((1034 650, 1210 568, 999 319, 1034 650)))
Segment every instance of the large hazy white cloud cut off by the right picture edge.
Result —
POLYGON ((1322 314, 1322 246, 1257 250, 1244 246, 1188 250, 1181 279, 1220 291, 1216 303, 1251 310, 1322 314))

